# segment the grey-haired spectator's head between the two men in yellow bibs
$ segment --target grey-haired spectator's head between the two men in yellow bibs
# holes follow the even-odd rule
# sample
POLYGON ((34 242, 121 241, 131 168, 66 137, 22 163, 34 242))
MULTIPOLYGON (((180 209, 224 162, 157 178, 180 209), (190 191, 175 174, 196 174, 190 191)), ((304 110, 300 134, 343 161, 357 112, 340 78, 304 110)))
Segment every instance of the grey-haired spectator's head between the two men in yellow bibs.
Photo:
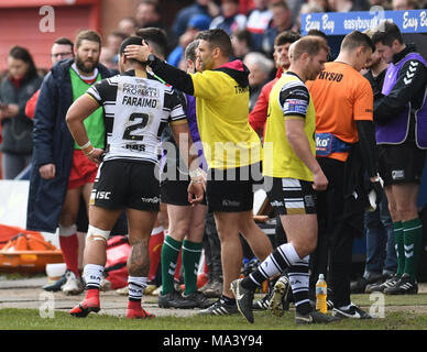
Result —
POLYGON ((255 107, 262 87, 267 82, 274 68, 272 59, 262 53, 249 53, 244 56, 243 64, 249 68, 249 111, 255 107))

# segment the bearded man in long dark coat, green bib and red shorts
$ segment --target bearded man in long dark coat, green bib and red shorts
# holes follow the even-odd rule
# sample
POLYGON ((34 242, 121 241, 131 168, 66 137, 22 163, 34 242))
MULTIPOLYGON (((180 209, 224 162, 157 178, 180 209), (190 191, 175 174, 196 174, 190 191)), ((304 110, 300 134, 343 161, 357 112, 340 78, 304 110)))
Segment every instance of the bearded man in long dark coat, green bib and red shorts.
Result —
MULTIPOLYGON (((34 156, 30 180, 26 228, 55 232, 59 227, 59 246, 67 265, 66 294, 83 290, 78 271, 76 219, 80 197, 89 202, 97 166, 87 162, 74 143, 65 122, 68 108, 94 82, 111 76, 99 64, 100 36, 94 31, 77 35, 75 59, 57 63, 45 77, 34 116, 34 156)), ((103 148, 102 111, 89 119, 94 145, 103 148)))

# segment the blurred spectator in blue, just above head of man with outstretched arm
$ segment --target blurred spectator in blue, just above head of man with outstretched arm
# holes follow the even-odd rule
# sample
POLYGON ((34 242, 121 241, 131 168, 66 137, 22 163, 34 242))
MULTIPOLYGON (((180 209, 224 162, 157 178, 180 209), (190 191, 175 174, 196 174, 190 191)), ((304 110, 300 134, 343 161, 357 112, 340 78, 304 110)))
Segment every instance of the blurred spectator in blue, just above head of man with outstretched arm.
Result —
POLYGON ((195 0, 193 4, 182 9, 175 16, 173 31, 177 37, 184 34, 187 30, 188 22, 195 14, 205 14, 212 18, 220 13, 219 7, 214 0, 195 0))

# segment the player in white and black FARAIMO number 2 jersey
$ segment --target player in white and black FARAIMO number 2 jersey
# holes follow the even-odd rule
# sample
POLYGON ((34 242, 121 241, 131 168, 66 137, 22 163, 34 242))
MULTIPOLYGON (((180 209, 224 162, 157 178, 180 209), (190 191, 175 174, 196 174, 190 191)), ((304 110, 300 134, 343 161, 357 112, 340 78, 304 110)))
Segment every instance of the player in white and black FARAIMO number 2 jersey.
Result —
MULTIPOLYGON (((177 141, 179 133, 189 135, 189 132, 176 92, 150 75, 145 65, 123 55, 124 48, 132 44, 141 45, 141 37, 131 36, 123 41, 119 63, 121 75, 89 88, 69 108, 66 118, 73 138, 87 157, 96 163, 102 158, 90 199, 84 258, 87 294, 84 301, 72 309, 75 317, 86 317, 100 309, 99 285, 107 260, 106 242, 123 209, 127 209, 131 244, 127 317, 152 317, 142 308, 141 299, 149 280, 150 234, 160 207, 160 180, 155 167, 157 146, 166 123, 171 124, 177 141), (106 120, 105 151, 88 142, 83 123, 100 106, 106 120)), ((182 155, 188 155, 184 147, 182 155)), ((194 158, 187 158, 190 167, 194 158)), ((200 177, 191 180, 189 199, 197 202, 202 199, 204 185, 200 177)))

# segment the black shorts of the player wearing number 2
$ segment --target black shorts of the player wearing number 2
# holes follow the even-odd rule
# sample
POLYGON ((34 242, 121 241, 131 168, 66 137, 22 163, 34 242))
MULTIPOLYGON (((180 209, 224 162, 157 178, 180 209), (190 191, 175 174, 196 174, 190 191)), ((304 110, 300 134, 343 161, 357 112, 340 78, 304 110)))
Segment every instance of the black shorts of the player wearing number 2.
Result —
POLYGON ((114 160, 99 166, 90 204, 108 208, 160 210, 160 182, 152 163, 114 160))

